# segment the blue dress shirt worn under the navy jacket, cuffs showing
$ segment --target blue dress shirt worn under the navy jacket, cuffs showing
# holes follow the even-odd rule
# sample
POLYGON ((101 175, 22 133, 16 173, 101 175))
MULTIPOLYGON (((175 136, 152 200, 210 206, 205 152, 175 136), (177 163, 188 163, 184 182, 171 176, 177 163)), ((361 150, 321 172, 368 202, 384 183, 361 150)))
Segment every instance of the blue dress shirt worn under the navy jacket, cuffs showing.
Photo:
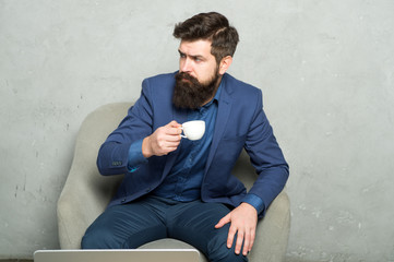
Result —
MULTIPOLYGON (((214 134, 222 85, 223 83, 220 83, 215 97, 210 103, 199 109, 188 110, 188 121, 205 121, 205 133, 201 140, 181 140, 180 151, 172 169, 151 194, 180 202, 201 199, 201 184, 214 134)), ((147 163, 147 159, 142 154, 142 141, 139 140, 130 146, 128 166, 131 172, 136 170, 141 164, 147 163)), ((255 194, 247 194, 243 202, 251 204, 258 211, 258 214, 264 210, 262 199, 255 194)))

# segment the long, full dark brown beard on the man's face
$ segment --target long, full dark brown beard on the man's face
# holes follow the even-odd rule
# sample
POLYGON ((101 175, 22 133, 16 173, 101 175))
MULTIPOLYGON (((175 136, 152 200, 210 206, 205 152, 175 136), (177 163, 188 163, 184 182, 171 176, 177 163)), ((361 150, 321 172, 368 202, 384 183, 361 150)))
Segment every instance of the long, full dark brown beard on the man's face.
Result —
POLYGON ((207 83, 200 83, 198 79, 184 72, 178 72, 175 76, 176 84, 172 103, 178 108, 196 109, 213 97, 218 85, 218 69, 207 83))

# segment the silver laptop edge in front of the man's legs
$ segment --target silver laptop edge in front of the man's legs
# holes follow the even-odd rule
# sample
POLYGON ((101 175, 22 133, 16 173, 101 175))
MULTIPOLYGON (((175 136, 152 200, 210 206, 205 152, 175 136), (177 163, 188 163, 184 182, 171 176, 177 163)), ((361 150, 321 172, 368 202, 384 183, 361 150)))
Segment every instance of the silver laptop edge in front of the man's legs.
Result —
POLYGON ((34 262, 200 262, 195 249, 37 250, 34 262))

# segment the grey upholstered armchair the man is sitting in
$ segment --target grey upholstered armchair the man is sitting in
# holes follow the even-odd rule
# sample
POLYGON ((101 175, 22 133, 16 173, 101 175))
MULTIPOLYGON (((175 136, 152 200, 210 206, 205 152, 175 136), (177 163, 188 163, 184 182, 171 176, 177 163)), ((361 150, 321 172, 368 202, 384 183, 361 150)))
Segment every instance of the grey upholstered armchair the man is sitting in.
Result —
MULTIPOLYGON (((96 167, 100 144, 126 116, 131 103, 105 105, 89 114, 77 134, 73 163, 58 201, 58 226, 61 249, 80 249, 86 228, 106 209, 122 176, 103 177, 96 167)), ((255 179, 248 155, 242 152, 234 174, 250 188, 255 179)), ((249 261, 282 261, 290 227, 289 200, 282 192, 258 224, 249 261)), ((175 239, 162 239, 141 248, 192 248, 175 239)), ((201 261, 207 261, 201 255, 201 261)))

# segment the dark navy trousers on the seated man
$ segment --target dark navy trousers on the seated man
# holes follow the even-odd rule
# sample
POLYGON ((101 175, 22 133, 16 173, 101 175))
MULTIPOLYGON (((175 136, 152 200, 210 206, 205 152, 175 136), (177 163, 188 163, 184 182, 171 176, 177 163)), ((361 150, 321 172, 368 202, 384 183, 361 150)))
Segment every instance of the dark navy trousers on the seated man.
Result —
MULTIPOLYGON (((229 224, 215 225, 230 210, 220 203, 178 202, 144 196, 107 209, 87 228, 83 249, 134 249, 163 238, 182 240, 199 249, 212 262, 248 261, 227 248, 229 224)), ((235 238, 237 239, 237 238, 235 238)))

